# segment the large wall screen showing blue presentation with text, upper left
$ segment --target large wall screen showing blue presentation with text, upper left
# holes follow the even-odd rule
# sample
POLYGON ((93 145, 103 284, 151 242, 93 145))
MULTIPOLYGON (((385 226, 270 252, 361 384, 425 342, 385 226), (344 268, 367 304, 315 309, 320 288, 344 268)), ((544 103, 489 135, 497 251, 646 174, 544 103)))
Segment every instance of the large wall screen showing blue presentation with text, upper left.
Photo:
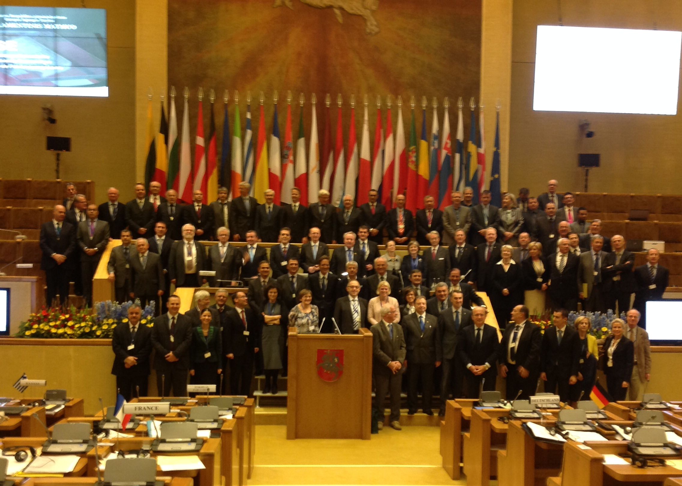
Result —
POLYGON ((109 96, 106 10, 0 6, 0 94, 109 96))

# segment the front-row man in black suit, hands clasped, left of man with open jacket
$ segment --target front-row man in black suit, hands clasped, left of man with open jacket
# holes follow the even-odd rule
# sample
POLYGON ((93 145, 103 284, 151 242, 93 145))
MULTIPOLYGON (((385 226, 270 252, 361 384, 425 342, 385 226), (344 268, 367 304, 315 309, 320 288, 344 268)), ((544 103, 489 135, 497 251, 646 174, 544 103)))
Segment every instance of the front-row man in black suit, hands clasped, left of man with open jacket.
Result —
POLYGON ((458 357, 464 367, 466 398, 469 399, 480 396, 481 383, 483 391, 495 390, 500 341, 497 330, 486 324, 487 313, 484 307, 475 306, 471 310, 473 326, 462 328, 459 336, 458 357))

